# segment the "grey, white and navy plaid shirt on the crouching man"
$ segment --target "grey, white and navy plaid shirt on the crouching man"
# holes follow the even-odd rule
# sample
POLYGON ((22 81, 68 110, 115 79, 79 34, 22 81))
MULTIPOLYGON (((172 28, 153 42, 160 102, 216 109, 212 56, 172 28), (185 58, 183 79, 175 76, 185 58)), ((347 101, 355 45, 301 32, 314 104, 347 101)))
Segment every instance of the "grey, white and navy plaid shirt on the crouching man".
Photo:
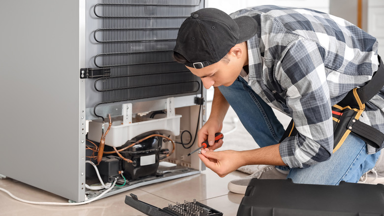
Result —
MULTIPOLYGON (((263 5, 231 14, 238 16, 259 24, 257 36, 247 41, 248 84, 269 106, 291 116, 299 132, 280 144, 283 161, 303 168, 329 159, 331 107, 378 70, 376 38, 341 18, 304 8, 263 5)), ((368 117, 361 121, 384 132, 383 110, 384 89, 366 103, 368 117)))

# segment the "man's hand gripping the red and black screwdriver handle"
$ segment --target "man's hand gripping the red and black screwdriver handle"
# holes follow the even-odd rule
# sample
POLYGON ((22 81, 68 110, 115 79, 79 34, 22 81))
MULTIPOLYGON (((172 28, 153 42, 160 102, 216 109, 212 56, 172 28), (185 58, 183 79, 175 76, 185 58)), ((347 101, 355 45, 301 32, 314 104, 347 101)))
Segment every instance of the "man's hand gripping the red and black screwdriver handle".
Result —
POLYGON ((223 122, 209 118, 208 121, 197 132, 197 142, 200 147, 201 144, 208 140, 208 149, 215 150, 223 145, 223 140, 219 140, 215 143, 215 134, 221 132, 223 128, 223 122))

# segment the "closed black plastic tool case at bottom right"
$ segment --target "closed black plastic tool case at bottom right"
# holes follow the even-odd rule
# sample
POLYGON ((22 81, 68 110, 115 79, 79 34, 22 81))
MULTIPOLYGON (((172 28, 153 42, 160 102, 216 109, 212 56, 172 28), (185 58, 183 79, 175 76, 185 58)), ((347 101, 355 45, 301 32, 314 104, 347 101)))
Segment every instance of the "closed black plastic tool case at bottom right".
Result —
POLYGON ((252 179, 237 216, 384 216, 384 185, 252 179))

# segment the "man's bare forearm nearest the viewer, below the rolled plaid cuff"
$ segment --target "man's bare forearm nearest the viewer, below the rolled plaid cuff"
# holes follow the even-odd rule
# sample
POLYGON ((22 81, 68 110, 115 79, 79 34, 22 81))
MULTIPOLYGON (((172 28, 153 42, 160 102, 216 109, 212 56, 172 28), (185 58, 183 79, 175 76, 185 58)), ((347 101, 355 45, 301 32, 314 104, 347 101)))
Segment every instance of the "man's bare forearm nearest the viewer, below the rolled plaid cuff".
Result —
POLYGON ((287 166, 281 158, 279 146, 280 144, 274 144, 262 148, 240 151, 242 166, 255 164, 287 166))

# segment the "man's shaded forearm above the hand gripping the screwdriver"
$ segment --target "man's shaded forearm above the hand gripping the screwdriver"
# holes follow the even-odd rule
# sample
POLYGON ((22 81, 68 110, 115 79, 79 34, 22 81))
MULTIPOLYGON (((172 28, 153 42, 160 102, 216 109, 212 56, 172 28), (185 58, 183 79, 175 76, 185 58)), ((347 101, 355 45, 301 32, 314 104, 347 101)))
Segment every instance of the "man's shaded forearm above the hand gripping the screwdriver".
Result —
POLYGON ((223 122, 226 112, 228 111, 229 103, 224 98, 218 87, 215 87, 213 95, 212 109, 209 118, 215 118, 223 122))

